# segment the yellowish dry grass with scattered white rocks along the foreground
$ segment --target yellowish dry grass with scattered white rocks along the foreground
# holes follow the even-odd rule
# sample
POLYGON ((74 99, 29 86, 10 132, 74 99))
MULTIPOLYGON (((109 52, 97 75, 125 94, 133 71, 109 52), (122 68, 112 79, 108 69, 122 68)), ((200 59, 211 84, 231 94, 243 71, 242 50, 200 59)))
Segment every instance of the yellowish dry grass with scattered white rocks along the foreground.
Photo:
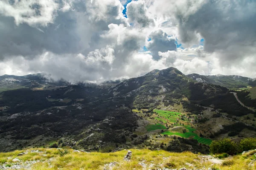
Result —
MULTIPOLYGON (((127 150, 122 150, 114 153, 75 153, 72 149, 65 155, 60 155, 58 149, 55 148, 39 148, 40 153, 31 153, 32 149, 29 150, 15 150, 8 153, 0 153, 0 162, 4 166, 11 167, 13 164, 12 159, 20 159, 20 164, 26 164, 26 161, 36 161, 33 164, 32 170, 100 170, 104 169, 105 164, 110 162, 118 162, 112 170, 143 170, 143 167, 139 164, 143 162, 147 164, 145 169, 180 169, 186 167, 191 169, 186 163, 193 164, 193 169, 208 169, 209 167, 221 170, 249 170, 248 164, 254 155, 237 155, 233 157, 225 158, 222 164, 213 165, 210 161, 202 161, 201 156, 191 152, 183 153, 171 153, 164 150, 147 150, 147 149, 131 149, 132 156, 131 161, 124 161, 123 157, 127 153, 127 150), (19 153, 28 152, 23 156, 17 156, 19 153), (11 159, 7 159, 11 157, 11 159), (151 165, 151 167, 149 167, 151 165)), ((256 166, 251 167, 254 169, 256 166)))

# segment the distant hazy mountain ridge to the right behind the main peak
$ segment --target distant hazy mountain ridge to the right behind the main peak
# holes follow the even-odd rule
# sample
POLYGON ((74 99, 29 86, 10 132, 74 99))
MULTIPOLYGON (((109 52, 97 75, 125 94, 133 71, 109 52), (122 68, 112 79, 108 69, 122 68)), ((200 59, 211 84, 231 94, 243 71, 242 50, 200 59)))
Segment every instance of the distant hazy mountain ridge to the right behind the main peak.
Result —
POLYGON ((197 81, 214 85, 221 85, 229 89, 239 89, 247 88, 247 86, 256 86, 256 81, 248 77, 242 77, 237 75, 224 76, 222 74, 217 75, 199 75, 199 74, 189 74, 189 78, 197 81))

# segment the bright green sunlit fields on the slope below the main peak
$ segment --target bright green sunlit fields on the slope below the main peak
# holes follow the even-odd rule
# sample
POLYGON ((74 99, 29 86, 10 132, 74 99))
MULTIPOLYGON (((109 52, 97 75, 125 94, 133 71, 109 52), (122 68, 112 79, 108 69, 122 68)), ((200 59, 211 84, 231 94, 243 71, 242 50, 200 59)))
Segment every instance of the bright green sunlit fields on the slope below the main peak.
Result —
MULTIPOLYGON (((155 119, 160 120, 163 123, 172 123, 172 124, 174 124, 174 123, 177 122, 177 119, 180 120, 180 118, 181 118, 180 116, 182 115, 181 113, 172 112, 172 111, 161 111, 161 110, 154 110, 154 111, 157 112, 157 114, 159 115, 159 117, 155 117, 155 119)), ((188 119, 184 118, 183 122, 185 122, 185 123, 188 122, 188 119)), ((174 126, 180 126, 180 125, 175 124, 174 126)), ((177 136, 181 136, 183 138, 189 138, 190 137, 190 138, 196 139, 199 143, 207 144, 207 145, 212 143, 211 139, 200 137, 200 136, 198 136, 197 133, 194 133, 194 131, 196 129, 192 128, 190 125, 183 125, 181 127, 185 127, 188 132, 179 133, 179 132, 166 131, 166 132, 163 132, 162 134, 177 135, 177 136)), ((158 128, 158 129, 160 129, 160 128, 158 128)))

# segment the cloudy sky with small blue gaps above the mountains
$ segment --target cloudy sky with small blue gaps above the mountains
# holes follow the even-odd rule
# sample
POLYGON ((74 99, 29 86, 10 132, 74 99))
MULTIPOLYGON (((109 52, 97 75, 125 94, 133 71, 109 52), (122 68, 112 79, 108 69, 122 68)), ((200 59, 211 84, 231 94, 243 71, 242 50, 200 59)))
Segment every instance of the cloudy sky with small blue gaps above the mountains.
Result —
POLYGON ((1 0, 0 75, 256 78, 255 0, 1 0))

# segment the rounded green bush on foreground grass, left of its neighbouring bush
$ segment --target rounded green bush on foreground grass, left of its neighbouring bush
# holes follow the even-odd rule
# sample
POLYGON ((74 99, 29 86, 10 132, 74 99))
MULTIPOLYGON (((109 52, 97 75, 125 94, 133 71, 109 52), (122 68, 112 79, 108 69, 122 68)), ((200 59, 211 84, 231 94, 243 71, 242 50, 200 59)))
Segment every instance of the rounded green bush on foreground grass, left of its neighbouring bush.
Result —
POLYGON ((210 152, 215 153, 227 153, 229 155, 235 155, 237 153, 238 146, 231 139, 221 139, 212 141, 210 144, 210 152))

